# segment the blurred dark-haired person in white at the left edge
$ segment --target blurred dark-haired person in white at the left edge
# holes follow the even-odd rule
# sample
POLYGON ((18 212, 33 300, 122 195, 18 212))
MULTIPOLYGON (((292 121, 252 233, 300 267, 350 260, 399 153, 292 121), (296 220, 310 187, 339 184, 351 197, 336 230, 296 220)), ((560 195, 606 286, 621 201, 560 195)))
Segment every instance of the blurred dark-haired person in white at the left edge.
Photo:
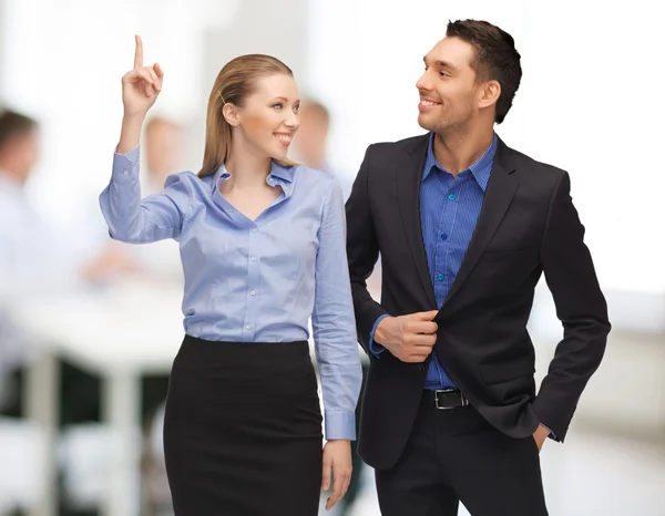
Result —
MULTIPOLYGON (((38 123, 13 111, 0 112, 0 414, 10 416, 23 415, 22 369, 31 352, 24 332, 10 320, 10 309, 22 299, 81 288, 125 266, 112 252, 83 256, 39 215, 25 194, 38 156, 38 123)), ((70 379, 63 372, 65 391, 70 379)), ((74 398, 79 391, 90 394, 79 386, 71 388, 74 398)), ((83 415, 89 406, 75 398, 63 410, 83 415)))

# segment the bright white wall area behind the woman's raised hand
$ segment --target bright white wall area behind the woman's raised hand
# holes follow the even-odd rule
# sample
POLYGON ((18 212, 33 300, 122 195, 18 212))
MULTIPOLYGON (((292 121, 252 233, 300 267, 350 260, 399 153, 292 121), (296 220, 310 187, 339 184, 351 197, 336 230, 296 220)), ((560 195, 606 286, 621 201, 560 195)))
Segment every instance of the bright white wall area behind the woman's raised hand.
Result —
POLYGON ((54 223, 96 210, 122 118, 122 75, 135 33, 145 63, 165 71, 155 111, 188 115, 203 78, 204 33, 233 20, 239 0, 6 0, 8 103, 38 117, 43 152, 31 195, 54 223))

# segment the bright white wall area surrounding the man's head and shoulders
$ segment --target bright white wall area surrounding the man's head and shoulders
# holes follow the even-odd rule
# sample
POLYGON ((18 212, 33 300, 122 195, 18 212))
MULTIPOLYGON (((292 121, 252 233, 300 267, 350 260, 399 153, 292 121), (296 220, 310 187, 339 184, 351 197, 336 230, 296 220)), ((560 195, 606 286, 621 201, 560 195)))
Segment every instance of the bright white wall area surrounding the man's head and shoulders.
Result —
POLYGON ((341 172, 356 174, 369 143, 421 132, 415 83, 422 55, 449 19, 487 19, 515 38, 524 72, 498 133, 571 173, 604 288, 665 291, 657 2, 311 4, 307 84, 331 107, 341 172))

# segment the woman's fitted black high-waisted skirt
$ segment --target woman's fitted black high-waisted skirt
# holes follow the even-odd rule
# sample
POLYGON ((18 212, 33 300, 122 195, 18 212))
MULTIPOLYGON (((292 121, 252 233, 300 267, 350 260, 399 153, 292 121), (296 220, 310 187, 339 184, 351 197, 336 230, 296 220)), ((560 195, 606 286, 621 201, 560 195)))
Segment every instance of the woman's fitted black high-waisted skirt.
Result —
POLYGON ((321 445, 306 341, 185 337, 164 421, 176 516, 316 516, 321 445))

